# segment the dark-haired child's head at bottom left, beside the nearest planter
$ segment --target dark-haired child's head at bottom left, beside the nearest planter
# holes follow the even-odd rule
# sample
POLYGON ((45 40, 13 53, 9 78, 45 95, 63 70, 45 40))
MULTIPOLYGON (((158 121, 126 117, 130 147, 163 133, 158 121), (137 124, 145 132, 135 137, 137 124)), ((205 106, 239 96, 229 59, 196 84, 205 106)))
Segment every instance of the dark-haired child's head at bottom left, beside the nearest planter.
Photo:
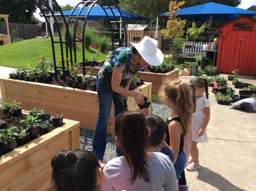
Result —
POLYGON ((104 173, 88 150, 62 150, 53 157, 51 166, 56 191, 102 191, 104 173))

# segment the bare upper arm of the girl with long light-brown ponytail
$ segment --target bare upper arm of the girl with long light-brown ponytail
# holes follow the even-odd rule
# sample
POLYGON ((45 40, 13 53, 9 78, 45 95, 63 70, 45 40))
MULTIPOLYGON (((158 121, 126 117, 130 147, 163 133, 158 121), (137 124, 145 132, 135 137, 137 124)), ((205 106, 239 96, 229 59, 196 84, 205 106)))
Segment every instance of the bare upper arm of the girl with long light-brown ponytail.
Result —
POLYGON ((178 121, 172 121, 168 125, 169 135, 170 135, 170 147, 173 151, 174 160, 173 164, 175 164, 178 151, 179 151, 179 143, 180 143, 180 135, 182 133, 182 126, 178 121))

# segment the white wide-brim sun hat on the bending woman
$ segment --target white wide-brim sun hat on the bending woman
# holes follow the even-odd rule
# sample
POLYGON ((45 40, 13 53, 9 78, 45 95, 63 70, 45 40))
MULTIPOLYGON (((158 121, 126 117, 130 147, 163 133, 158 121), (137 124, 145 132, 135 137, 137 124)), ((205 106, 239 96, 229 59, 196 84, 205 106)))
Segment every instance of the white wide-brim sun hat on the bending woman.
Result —
POLYGON ((164 55, 160 49, 158 49, 158 41, 145 36, 141 42, 130 42, 134 48, 140 53, 142 58, 150 65, 158 66, 163 63, 164 55))

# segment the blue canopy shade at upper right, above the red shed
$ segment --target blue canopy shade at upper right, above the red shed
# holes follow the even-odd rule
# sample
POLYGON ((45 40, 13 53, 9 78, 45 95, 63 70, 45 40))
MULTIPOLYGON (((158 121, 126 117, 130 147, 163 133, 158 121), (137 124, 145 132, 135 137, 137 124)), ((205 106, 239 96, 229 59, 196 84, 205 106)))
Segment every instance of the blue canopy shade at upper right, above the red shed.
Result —
MULTIPOLYGON (((215 20, 234 20, 239 17, 236 14, 256 15, 256 11, 239 9, 236 7, 231 7, 228 5, 223 5, 219 3, 213 3, 213 2, 195 5, 195 6, 184 8, 177 11, 177 15, 182 19, 192 18, 193 16, 195 18, 198 18, 199 20, 204 20, 204 19, 207 20, 209 19, 209 16, 213 16, 213 20, 214 20, 214 17, 215 17, 215 20)), ((161 13, 158 16, 166 17, 166 13, 161 13)))

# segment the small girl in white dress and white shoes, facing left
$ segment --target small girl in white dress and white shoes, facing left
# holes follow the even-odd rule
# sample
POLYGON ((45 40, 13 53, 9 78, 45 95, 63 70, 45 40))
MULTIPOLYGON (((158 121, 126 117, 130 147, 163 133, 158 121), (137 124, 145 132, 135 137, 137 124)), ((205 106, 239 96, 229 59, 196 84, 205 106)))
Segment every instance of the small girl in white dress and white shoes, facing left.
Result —
POLYGON ((208 82, 206 79, 196 77, 190 80, 190 84, 195 87, 196 111, 192 121, 193 142, 190 153, 191 157, 189 158, 189 165, 186 169, 192 171, 200 168, 197 143, 208 142, 206 127, 210 120, 210 102, 208 100, 208 82), (203 96, 204 91, 206 97, 203 96))

